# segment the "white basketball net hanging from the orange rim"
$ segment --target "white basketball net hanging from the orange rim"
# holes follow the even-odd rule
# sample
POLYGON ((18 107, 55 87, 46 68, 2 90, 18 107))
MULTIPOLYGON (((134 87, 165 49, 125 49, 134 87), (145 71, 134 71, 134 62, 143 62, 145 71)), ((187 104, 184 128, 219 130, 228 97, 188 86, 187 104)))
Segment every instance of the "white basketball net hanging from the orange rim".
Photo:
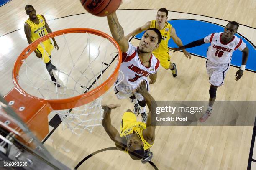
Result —
MULTIPOLYGON (((28 93, 43 99, 65 99, 95 89, 113 73, 118 63, 118 51, 106 38, 90 33, 70 33, 55 37, 59 50, 51 53, 52 70, 61 87, 54 85, 45 63, 34 53, 23 60, 18 83, 28 93)), ((40 43, 47 53, 47 46, 40 43)), ((67 110, 53 111, 61 118, 64 128, 75 134, 84 129, 92 132, 101 125, 102 96, 89 104, 67 110)), ((79 102, 79 101, 78 101, 79 102)))

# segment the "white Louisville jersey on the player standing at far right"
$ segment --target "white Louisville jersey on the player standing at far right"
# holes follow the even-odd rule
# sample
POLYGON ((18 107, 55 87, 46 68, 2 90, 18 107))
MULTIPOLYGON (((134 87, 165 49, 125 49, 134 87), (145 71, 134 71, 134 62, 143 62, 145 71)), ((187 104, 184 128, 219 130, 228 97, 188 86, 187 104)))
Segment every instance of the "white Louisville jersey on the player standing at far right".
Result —
POLYGON ((207 50, 207 59, 215 64, 230 64, 233 51, 242 51, 246 48, 246 43, 235 35, 228 43, 223 43, 220 39, 222 34, 212 33, 204 38, 205 43, 211 43, 207 50))

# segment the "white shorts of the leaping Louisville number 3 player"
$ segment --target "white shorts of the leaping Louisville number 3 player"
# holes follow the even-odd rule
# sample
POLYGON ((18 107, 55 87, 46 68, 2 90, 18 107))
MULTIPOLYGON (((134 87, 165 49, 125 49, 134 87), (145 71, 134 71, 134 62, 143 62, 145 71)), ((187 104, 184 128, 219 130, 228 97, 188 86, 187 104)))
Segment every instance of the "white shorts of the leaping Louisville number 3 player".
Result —
MULTIPOLYGON (((118 80, 115 82, 115 85, 118 83, 118 80)), ((146 80, 147 84, 147 90, 149 91, 149 83, 146 80)), ((126 84, 123 84, 120 82, 117 86, 115 86, 114 91, 115 95, 119 100, 125 99, 127 97, 133 96, 133 90, 136 89, 140 84, 136 84, 136 86, 128 86, 126 84)), ((134 93, 134 96, 136 97, 137 100, 142 101, 144 100, 144 97, 140 93, 134 93)))

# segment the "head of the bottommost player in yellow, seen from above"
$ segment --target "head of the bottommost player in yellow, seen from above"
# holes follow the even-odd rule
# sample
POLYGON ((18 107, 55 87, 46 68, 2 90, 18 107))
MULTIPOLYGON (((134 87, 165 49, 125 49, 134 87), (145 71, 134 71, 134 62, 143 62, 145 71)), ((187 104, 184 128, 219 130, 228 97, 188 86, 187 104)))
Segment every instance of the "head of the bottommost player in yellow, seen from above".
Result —
POLYGON ((127 150, 133 160, 140 160, 144 156, 143 142, 137 134, 131 134, 127 139, 127 150))

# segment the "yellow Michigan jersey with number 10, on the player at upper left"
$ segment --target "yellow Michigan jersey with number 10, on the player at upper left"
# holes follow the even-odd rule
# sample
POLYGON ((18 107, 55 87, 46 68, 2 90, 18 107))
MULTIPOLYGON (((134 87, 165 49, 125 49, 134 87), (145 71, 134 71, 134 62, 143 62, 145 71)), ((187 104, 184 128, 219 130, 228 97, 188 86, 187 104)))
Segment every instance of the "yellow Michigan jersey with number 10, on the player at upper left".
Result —
MULTIPOLYGON (((28 23, 28 25, 31 28, 31 40, 32 41, 35 41, 38 38, 48 34, 48 32, 46 30, 46 27, 45 27, 44 18, 39 14, 37 14, 36 17, 39 20, 38 24, 33 23, 29 18, 28 18, 28 20, 26 20, 26 23, 28 23)), ((51 43, 50 39, 44 41, 43 44, 44 44, 44 46, 47 46, 47 45, 52 46, 52 43, 51 43)))

